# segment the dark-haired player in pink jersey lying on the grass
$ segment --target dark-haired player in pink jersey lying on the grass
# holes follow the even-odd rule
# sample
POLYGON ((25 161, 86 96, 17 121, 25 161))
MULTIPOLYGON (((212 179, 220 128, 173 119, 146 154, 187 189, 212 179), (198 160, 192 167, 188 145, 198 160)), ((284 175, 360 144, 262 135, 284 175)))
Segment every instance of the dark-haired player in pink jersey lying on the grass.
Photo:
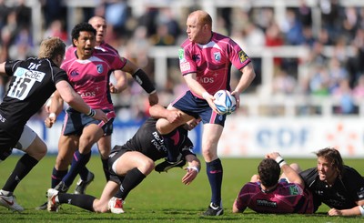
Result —
POLYGON ((291 166, 277 152, 266 155, 258 165, 258 175, 251 177, 238 193, 233 213, 246 208, 258 213, 312 213, 312 195, 298 175, 298 165, 291 166), (280 170, 283 174, 279 180, 280 170))

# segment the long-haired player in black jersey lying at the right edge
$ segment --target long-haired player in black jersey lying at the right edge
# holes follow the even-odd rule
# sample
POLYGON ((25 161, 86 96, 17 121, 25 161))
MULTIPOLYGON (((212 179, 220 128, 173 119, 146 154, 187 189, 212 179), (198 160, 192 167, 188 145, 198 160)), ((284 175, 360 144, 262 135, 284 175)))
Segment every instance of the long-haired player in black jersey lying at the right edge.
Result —
POLYGON ((317 167, 299 173, 312 192, 314 210, 324 203, 329 216, 364 216, 364 178, 344 165, 335 148, 320 149, 316 156, 317 167))

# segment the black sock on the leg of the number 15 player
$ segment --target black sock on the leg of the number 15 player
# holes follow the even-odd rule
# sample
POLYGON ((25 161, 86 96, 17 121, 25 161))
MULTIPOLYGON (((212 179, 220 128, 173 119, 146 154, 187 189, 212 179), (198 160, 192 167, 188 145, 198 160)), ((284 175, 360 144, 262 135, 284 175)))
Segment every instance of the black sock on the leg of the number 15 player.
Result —
POLYGON ((34 157, 30 157, 25 153, 23 157, 17 161, 13 173, 7 178, 4 186, 4 190, 14 192, 16 186, 20 181, 32 170, 33 167, 38 163, 34 157))

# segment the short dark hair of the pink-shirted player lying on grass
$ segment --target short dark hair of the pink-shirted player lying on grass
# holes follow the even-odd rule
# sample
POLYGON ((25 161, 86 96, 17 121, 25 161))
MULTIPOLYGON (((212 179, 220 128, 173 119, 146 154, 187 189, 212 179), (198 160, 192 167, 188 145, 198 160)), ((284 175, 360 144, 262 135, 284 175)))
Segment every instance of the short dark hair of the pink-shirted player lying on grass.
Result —
POLYGON ((272 187, 278 183, 280 167, 272 158, 263 159, 258 166, 259 179, 265 187, 272 187))

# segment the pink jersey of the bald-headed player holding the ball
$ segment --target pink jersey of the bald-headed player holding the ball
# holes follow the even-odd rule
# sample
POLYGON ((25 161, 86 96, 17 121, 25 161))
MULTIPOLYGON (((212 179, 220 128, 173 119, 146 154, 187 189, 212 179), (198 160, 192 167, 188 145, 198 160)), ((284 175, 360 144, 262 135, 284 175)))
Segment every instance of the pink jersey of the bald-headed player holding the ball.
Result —
POLYGON ((178 56, 182 75, 197 73, 198 83, 211 95, 220 89, 230 90, 231 65, 240 70, 250 62, 250 58, 237 43, 214 32, 206 45, 192 43, 187 39, 181 45, 178 56))

